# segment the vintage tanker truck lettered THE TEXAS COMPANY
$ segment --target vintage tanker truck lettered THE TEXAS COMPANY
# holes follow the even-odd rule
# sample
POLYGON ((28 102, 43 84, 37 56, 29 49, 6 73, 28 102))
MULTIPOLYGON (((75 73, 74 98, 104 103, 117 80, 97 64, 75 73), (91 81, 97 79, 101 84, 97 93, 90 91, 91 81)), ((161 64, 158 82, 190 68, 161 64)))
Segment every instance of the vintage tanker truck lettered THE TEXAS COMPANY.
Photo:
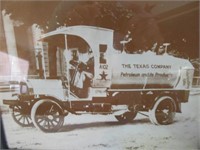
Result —
MULTIPOLYGON (((113 48, 113 30, 92 26, 61 27, 42 35, 63 35, 65 71, 61 79, 28 79, 17 100, 4 100, 21 126, 56 132, 72 114, 112 114, 121 123, 146 112, 156 125, 171 124, 188 102, 194 68, 187 59, 149 50, 128 54, 113 48), (83 55, 69 48, 68 36, 88 44, 83 55), (88 55, 88 57, 83 57, 88 55), (85 59, 83 59, 85 58, 85 59), (87 58, 87 59, 86 59, 87 58)), ((164 45, 167 48, 167 44, 164 45)))

